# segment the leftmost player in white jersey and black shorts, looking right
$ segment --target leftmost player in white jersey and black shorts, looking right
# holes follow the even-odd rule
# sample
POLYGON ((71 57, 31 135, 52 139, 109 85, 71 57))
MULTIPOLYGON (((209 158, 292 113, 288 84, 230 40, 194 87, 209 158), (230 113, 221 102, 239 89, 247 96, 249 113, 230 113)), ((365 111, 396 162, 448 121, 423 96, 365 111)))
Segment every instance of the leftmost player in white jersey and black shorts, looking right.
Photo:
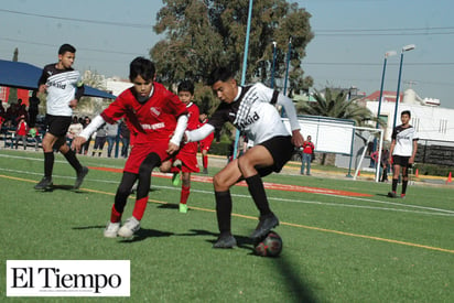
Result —
POLYGON ((76 171, 74 188, 80 187, 88 167, 82 166, 76 154, 66 143, 66 132, 72 122, 73 108, 84 94, 80 73, 73 69, 76 48, 63 44, 58 50, 58 62, 44 66, 39 80, 40 93, 47 91, 46 97, 46 133, 43 138, 44 176, 35 190, 52 188, 52 171, 54 166, 54 149, 58 150, 76 171))

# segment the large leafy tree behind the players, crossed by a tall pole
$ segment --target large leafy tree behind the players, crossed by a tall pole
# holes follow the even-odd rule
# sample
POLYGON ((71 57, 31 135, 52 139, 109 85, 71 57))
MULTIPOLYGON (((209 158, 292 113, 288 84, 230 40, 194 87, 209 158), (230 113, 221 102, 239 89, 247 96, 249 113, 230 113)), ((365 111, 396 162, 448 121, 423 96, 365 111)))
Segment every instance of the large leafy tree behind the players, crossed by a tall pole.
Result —
MULTIPOLYGON (((242 69, 248 0, 163 0, 154 31, 165 33, 150 55, 156 63, 160 80, 173 84, 185 78, 203 82, 217 65, 242 69)), ((313 33, 310 13, 284 0, 256 1, 249 41, 246 82, 267 83, 273 59, 272 42, 278 45, 275 77, 283 77, 289 37, 292 37, 289 76, 293 90, 307 89, 301 61, 313 33)))

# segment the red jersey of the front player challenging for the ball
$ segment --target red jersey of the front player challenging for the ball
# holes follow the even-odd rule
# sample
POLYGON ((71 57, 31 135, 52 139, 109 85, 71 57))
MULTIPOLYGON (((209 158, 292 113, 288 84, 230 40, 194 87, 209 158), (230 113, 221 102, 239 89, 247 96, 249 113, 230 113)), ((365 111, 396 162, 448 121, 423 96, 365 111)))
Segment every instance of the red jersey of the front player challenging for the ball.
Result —
POLYGON ((131 132, 137 131, 136 143, 167 141, 172 137, 176 119, 186 115, 185 105, 162 84, 153 83, 153 93, 145 102, 139 102, 133 87, 125 90, 101 112, 108 123, 126 116, 131 132), (131 129, 132 128, 132 129, 131 129))

